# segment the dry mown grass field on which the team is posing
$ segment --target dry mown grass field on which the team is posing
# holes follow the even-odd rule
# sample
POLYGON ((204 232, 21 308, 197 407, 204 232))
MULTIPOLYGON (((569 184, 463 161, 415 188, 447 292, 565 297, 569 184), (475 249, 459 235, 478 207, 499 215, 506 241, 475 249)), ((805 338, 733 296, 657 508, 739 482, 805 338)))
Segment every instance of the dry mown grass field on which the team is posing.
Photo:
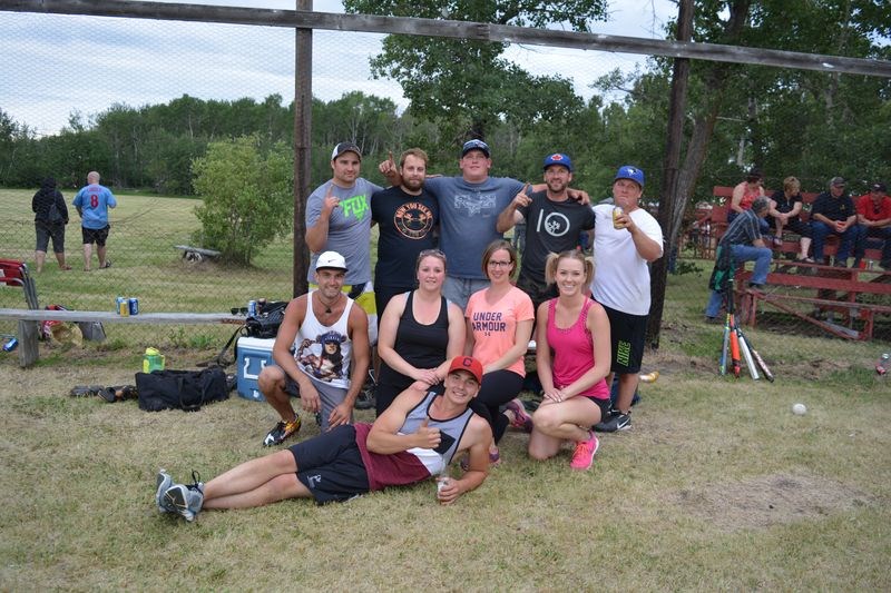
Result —
MULTIPOLYGON (((143 199, 144 210, 173 208, 173 220, 194 205, 143 199)), ((32 228, 22 228, 27 255, 32 228)), ((155 249, 117 228, 121 244, 141 243, 158 261, 137 278, 127 265, 102 274, 137 283, 175 271, 158 298, 227 308, 265 286, 267 269, 290 287, 290 245, 264 254, 264 276, 236 285, 223 270, 183 267, 168 236, 155 249)), ((18 245, 0 239, 4 251, 18 245)), ((41 294, 85 276, 67 274, 45 270, 41 294)), ((98 281, 80 289, 114 300, 98 281)), ((147 344, 169 367, 188 368, 221 343, 190 328, 134 337, 108 327, 104 346, 41 345, 27 370, 0 353, 0 589, 891 590, 891 386, 871 367, 888 344, 760 328, 748 334, 776 383, 719 377, 721 330, 702 323, 705 299, 704 276, 669 278, 662 346, 644 362, 662 375, 642 387, 634 428, 604 435, 590 472, 569 471, 569 449, 531 462, 527 437, 509 433, 502 465, 450 507, 435 504, 429 483, 324 507, 206 512, 194 524, 160 515, 159 467, 209 480, 265 453, 272 409, 233 397, 194 414, 148 414, 67 393, 133 383, 147 344), (793 415, 795 402, 809 413, 793 415)), ((317 433, 304 419, 300 438, 317 433)))

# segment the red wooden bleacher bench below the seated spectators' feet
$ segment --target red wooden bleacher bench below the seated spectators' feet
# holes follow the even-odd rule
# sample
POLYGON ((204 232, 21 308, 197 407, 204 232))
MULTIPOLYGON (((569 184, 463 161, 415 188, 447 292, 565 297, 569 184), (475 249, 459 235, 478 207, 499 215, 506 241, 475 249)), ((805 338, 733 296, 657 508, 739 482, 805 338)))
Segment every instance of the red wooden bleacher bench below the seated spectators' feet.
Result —
POLYGON ((740 319, 754 326, 758 303, 794 315, 821 329, 845 339, 869 340, 872 338, 877 316, 891 316, 891 305, 868 303, 866 295, 889 297, 891 303, 891 271, 860 268, 836 268, 819 264, 776 261, 774 271, 767 274, 763 289, 745 288, 752 271, 738 270, 734 285, 740 302, 740 319), (792 270, 795 273, 792 273, 792 270), (783 288, 781 293, 780 289, 783 288), (795 308, 795 304, 812 307, 811 312, 795 308), (840 314, 845 325, 832 319, 821 319, 840 314), (862 329, 854 328, 854 320, 863 322, 862 329))

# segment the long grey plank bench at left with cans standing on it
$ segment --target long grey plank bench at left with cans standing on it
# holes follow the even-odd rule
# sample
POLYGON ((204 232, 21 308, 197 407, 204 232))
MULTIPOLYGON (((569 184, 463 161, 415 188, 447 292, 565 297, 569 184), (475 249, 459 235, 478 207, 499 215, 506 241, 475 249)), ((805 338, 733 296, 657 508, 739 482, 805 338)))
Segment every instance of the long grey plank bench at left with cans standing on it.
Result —
POLYGON ((19 322, 19 366, 35 364, 39 356, 39 323, 59 322, 101 322, 102 324, 229 324, 241 325, 244 316, 229 313, 145 313, 120 316, 112 312, 98 310, 49 310, 49 309, 2 309, 0 319, 19 322))

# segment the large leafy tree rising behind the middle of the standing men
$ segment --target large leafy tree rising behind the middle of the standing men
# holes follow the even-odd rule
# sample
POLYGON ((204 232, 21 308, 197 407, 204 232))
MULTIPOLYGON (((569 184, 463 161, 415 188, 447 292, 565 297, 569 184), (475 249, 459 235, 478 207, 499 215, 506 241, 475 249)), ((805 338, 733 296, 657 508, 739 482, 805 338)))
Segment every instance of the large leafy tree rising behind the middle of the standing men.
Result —
MULTIPOLYGON (((591 20, 606 16, 605 0, 344 0, 346 12, 428 19, 547 27, 566 23, 587 31, 591 20)), ((375 77, 393 78, 411 101, 410 111, 438 123, 452 147, 468 137, 489 135, 499 121, 519 127, 550 106, 552 85, 561 79, 531 77, 501 58, 507 43, 470 39, 388 36, 383 51, 372 59, 375 77)))

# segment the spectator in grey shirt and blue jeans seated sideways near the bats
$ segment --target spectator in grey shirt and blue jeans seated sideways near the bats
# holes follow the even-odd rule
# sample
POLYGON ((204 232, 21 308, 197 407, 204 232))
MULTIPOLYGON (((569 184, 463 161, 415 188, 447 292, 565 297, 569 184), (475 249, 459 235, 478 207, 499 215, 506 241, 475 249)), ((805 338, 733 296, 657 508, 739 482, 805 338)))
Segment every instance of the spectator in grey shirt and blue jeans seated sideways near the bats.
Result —
MULTIPOLYGON (((737 266, 745 265, 745 261, 754 261, 755 269, 752 273, 748 286, 752 288, 761 288, 767 281, 767 271, 771 268, 771 259, 773 251, 770 247, 764 245, 764 239, 761 238, 760 221, 767 216, 770 208, 770 199, 761 196, 752 202, 752 208, 744 211, 742 216, 727 227, 727 231, 718 243, 718 250, 730 249, 731 257, 736 261, 737 266)), ((715 259, 715 265, 718 265, 721 255, 715 259)), ((724 293, 712 290, 712 296, 708 298, 708 305, 705 308, 705 320, 707 323, 717 323, 717 314, 721 312, 721 304, 724 302, 724 293)))

